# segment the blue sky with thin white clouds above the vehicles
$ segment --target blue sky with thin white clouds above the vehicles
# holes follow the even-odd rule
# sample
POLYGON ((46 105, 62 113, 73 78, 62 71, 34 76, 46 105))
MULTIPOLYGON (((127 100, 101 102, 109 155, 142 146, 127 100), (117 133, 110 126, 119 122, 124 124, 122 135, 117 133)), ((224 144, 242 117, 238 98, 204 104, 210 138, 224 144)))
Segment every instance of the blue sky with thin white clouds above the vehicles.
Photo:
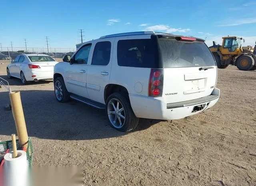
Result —
POLYGON ((84 40, 107 34, 154 30, 206 38, 208 46, 222 36, 256 40, 256 0, 1 0, 2 46, 75 47, 78 29, 84 40), (4 7, 4 8, 3 8, 4 7))

